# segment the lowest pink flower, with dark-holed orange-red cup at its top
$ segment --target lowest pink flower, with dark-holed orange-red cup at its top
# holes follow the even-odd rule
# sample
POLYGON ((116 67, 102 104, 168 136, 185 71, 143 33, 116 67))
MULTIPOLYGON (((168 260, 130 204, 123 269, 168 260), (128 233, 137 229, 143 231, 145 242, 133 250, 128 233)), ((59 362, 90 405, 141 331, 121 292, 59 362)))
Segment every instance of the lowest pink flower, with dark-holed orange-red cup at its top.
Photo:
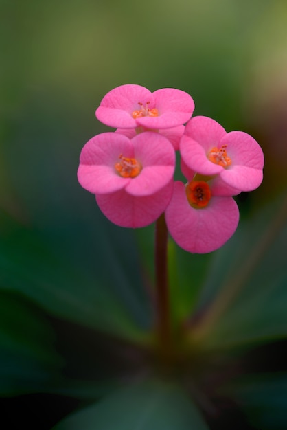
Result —
POLYGON ((231 194, 240 191, 218 177, 209 181, 183 165, 188 182, 174 183, 165 221, 174 241, 185 251, 208 253, 231 238, 239 221, 239 211, 231 194))

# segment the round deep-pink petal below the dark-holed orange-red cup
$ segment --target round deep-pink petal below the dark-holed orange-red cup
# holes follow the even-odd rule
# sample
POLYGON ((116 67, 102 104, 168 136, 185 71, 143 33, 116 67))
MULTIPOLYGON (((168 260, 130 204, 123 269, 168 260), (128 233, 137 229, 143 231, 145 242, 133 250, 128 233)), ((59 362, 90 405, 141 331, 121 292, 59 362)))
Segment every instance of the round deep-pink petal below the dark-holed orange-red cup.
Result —
POLYGON ((188 252, 209 253, 231 238, 239 211, 232 197, 212 197, 207 207, 194 209, 187 201, 185 186, 176 182, 165 220, 177 245, 188 252))

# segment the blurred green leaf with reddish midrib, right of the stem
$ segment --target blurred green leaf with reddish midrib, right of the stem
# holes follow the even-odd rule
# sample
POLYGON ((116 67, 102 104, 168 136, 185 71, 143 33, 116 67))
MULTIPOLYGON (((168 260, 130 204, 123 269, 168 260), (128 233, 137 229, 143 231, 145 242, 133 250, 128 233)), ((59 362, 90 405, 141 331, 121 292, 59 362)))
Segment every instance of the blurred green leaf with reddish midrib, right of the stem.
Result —
POLYGON ((287 201, 240 223, 214 258, 199 309, 207 348, 287 336, 287 201), (209 307, 210 306, 210 307, 209 307))

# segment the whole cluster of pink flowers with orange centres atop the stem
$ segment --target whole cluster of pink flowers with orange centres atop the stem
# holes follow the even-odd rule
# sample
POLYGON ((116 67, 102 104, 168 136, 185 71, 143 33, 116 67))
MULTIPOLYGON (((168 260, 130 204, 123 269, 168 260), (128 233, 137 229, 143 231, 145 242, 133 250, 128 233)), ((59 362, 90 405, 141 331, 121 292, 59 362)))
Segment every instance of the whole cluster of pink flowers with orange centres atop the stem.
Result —
POLYGON ((78 181, 116 225, 145 227, 165 212, 180 247, 207 253, 236 231, 232 196, 260 185, 264 156, 250 135, 227 133, 193 111, 191 96, 179 89, 151 93, 127 84, 111 90, 95 115, 117 130, 84 145, 78 181), (185 184, 174 181, 176 150, 185 184))

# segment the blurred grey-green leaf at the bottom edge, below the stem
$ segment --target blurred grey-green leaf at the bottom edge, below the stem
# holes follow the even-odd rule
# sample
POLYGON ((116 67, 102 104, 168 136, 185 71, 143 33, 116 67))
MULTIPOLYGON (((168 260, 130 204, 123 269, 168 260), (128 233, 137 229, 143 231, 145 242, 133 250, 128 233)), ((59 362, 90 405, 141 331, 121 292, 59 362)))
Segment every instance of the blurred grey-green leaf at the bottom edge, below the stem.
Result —
POLYGON ((119 389, 62 420, 54 430, 207 430, 178 385, 146 381, 119 389))

